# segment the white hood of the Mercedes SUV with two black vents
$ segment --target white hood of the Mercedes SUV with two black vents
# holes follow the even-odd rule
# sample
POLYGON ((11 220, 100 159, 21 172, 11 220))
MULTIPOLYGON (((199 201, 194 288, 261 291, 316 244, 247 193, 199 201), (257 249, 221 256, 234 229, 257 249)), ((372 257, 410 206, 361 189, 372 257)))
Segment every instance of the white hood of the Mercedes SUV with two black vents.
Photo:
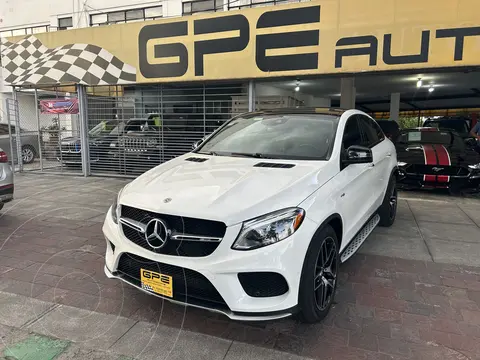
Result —
POLYGON ((297 206, 333 176, 332 170, 332 162, 327 161, 186 154, 131 182, 122 192, 120 203, 157 213, 218 220, 232 225, 297 206), (206 161, 186 160, 191 157, 206 161), (267 162, 294 166, 254 166, 267 162), (171 201, 165 203, 166 198, 171 201))

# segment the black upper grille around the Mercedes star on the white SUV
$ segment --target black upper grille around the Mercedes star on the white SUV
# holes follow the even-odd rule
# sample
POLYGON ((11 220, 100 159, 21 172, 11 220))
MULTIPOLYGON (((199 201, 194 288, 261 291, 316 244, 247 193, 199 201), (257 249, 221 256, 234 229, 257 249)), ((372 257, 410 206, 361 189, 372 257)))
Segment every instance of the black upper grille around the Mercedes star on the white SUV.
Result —
MULTIPOLYGON (((147 224, 151 219, 162 219, 172 230, 172 233, 184 233, 189 235, 209 236, 223 238, 226 231, 226 225, 219 221, 193 219, 175 215, 157 214, 151 211, 140 210, 130 206, 122 205, 122 217, 139 221, 147 224)), ((141 246, 144 249, 153 251, 157 254, 202 257, 212 254, 220 242, 198 241, 198 240, 174 240, 169 239, 164 247, 153 249, 148 245, 144 234, 137 230, 122 224, 124 235, 131 242, 141 246)))

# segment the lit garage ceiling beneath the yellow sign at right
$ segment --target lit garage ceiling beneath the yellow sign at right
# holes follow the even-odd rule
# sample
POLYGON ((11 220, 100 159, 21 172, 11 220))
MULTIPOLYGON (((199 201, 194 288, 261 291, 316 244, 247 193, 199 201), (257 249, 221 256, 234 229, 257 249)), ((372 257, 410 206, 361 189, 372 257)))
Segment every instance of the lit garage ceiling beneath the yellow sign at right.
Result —
MULTIPOLYGON (((300 91, 316 97, 331 98, 338 106, 340 77, 301 78, 300 91)), ((292 90, 296 78, 270 81, 270 86, 292 90)), ((365 110, 388 111, 391 93, 400 93, 401 109, 480 107, 480 69, 466 72, 390 73, 355 75, 357 105, 365 110), (418 78, 423 86, 417 88, 418 78), (434 87, 429 92, 430 86, 434 87)))

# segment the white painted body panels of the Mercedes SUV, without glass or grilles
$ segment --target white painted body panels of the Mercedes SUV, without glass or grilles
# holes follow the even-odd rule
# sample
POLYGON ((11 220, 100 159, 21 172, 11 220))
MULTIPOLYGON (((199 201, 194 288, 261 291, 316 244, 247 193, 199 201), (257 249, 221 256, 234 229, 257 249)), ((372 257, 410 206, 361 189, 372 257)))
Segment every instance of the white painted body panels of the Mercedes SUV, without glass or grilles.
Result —
POLYGON ((138 177, 121 191, 118 204, 122 207, 223 222, 226 232, 218 247, 208 256, 157 254, 130 241, 122 231, 123 225, 116 224, 109 212, 103 226, 107 239, 107 276, 128 282, 119 276, 117 270, 120 256, 129 253, 202 274, 227 307, 219 309, 194 302, 189 305, 218 311, 238 320, 267 320, 291 315, 298 305, 302 266, 314 234, 326 221, 334 219, 337 224, 340 221, 341 253, 381 206, 387 184, 397 166, 395 147, 385 138, 372 147, 372 163, 349 165, 341 170, 345 123, 356 115, 367 116, 356 110, 339 113, 335 142, 328 161, 265 160, 189 153, 138 177), (191 157, 207 160, 186 161, 191 157), (254 167, 259 162, 294 166, 254 167), (232 249, 243 222, 294 207, 304 209, 306 216, 293 235, 254 250, 232 249), (278 273, 285 278, 288 291, 273 297, 249 296, 237 275, 243 272, 278 273))

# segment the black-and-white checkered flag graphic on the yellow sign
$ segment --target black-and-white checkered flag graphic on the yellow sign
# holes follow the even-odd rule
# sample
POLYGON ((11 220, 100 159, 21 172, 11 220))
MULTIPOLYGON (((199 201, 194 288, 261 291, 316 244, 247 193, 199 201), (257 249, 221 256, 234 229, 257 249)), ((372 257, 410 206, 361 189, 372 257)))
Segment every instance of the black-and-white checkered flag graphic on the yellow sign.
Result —
POLYGON ((49 49, 35 36, 16 43, 2 39, 0 54, 10 85, 121 85, 136 80, 136 69, 96 45, 70 44, 49 49))

